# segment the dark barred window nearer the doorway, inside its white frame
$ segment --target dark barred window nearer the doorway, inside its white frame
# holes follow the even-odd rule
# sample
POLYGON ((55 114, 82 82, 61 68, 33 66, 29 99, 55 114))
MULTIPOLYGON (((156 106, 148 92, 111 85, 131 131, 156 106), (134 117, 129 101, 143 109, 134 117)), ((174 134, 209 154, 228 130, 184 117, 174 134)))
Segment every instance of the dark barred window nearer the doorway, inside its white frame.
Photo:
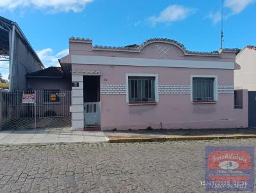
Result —
POLYGON ((129 102, 156 102, 155 77, 128 77, 129 102))

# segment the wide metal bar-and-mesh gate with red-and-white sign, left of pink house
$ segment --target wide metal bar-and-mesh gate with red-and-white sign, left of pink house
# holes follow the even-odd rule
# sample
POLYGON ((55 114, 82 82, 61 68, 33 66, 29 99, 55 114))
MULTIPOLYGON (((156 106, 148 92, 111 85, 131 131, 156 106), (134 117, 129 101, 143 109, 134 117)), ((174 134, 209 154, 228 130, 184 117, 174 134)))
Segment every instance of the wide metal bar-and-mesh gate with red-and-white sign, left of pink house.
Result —
POLYGON ((71 127, 71 91, 0 91, 0 129, 71 127))

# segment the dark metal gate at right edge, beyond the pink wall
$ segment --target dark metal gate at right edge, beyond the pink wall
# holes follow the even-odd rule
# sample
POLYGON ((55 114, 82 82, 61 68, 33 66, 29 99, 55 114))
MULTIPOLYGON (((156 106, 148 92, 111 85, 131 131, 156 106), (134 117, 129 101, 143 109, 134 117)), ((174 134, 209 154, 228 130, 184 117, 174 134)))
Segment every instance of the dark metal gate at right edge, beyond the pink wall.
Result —
POLYGON ((248 91, 249 127, 256 127, 256 91, 248 91))

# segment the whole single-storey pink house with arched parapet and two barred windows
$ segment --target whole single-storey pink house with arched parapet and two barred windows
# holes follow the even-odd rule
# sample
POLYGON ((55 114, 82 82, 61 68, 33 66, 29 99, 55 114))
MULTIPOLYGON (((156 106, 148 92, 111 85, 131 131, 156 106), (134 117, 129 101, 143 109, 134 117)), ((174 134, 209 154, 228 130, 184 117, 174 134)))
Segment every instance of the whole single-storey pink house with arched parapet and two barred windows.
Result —
POLYGON ((60 62, 72 72, 72 127, 248 127, 246 101, 234 109, 235 60, 235 49, 191 52, 163 38, 125 47, 70 38, 60 62))

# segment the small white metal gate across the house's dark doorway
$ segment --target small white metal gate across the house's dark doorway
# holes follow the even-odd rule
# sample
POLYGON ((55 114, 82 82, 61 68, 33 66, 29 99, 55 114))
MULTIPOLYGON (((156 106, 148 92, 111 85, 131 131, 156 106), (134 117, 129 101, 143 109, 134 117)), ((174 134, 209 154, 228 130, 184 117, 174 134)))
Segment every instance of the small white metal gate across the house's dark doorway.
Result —
POLYGON ((84 103, 84 127, 100 126, 100 102, 84 103))

